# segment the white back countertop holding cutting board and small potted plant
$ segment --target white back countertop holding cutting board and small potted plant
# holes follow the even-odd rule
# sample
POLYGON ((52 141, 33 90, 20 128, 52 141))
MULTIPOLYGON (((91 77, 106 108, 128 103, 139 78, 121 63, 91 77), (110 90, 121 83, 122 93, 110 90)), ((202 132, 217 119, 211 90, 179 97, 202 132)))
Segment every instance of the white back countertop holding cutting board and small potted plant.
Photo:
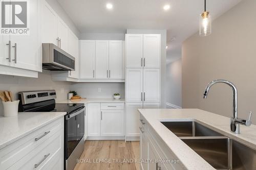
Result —
POLYGON ((80 99, 80 100, 63 100, 56 103, 124 103, 124 99, 80 99))

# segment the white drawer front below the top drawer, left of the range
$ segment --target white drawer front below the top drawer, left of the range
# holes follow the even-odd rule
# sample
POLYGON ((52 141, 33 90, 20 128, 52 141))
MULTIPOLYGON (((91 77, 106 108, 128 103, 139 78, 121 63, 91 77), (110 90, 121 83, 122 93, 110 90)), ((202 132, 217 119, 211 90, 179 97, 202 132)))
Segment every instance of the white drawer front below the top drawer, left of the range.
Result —
MULTIPOLYGON (((59 130, 36 149, 17 161, 8 169, 52 169, 56 167, 53 160, 63 160, 63 130, 59 130), (36 167, 35 167, 36 166, 36 167)), ((57 162, 59 163, 59 161, 57 162)), ((63 161, 62 161, 63 164, 63 161)), ((59 167, 59 166, 57 166, 59 167)), ((62 167, 63 169, 63 167, 62 167)), ((58 169, 56 169, 58 170, 58 169)), ((60 170, 60 169, 59 169, 60 170)))

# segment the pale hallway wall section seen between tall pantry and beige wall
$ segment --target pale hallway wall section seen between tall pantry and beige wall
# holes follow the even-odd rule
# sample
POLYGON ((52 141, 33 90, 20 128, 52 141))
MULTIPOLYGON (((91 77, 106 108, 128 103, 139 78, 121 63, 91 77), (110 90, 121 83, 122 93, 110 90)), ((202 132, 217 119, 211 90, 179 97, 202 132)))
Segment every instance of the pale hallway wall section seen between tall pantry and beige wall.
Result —
POLYGON ((181 58, 166 65, 166 102, 181 107, 181 58))

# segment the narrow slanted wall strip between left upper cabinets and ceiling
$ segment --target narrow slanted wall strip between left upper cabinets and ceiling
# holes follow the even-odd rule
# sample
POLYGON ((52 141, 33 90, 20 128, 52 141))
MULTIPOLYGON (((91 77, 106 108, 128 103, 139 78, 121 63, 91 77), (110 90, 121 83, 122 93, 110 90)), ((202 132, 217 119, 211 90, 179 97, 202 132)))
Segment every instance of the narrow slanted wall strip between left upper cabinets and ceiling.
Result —
POLYGON ((74 22, 68 16, 68 14, 63 10, 61 5, 57 0, 46 0, 47 3, 52 7, 52 9, 58 14, 58 16, 67 24, 71 31, 79 38, 80 31, 76 28, 74 22))

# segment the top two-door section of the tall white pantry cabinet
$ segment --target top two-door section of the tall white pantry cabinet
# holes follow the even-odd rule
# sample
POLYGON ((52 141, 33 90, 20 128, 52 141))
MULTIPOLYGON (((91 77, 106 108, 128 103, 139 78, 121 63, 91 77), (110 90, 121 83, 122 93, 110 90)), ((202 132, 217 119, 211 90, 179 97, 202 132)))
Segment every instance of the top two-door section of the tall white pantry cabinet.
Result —
POLYGON ((126 68, 160 68, 161 35, 126 34, 126 68))

